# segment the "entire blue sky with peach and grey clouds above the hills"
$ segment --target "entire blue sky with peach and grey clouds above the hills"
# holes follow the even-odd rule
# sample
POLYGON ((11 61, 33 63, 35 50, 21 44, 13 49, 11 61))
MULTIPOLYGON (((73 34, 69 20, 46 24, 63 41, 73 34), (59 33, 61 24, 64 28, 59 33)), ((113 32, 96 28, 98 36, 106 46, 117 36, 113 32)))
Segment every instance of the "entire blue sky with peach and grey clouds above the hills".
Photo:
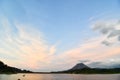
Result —
POLYGON ((32 71, 120 65, 119 0, 0 0, 0 60, 32 71))

